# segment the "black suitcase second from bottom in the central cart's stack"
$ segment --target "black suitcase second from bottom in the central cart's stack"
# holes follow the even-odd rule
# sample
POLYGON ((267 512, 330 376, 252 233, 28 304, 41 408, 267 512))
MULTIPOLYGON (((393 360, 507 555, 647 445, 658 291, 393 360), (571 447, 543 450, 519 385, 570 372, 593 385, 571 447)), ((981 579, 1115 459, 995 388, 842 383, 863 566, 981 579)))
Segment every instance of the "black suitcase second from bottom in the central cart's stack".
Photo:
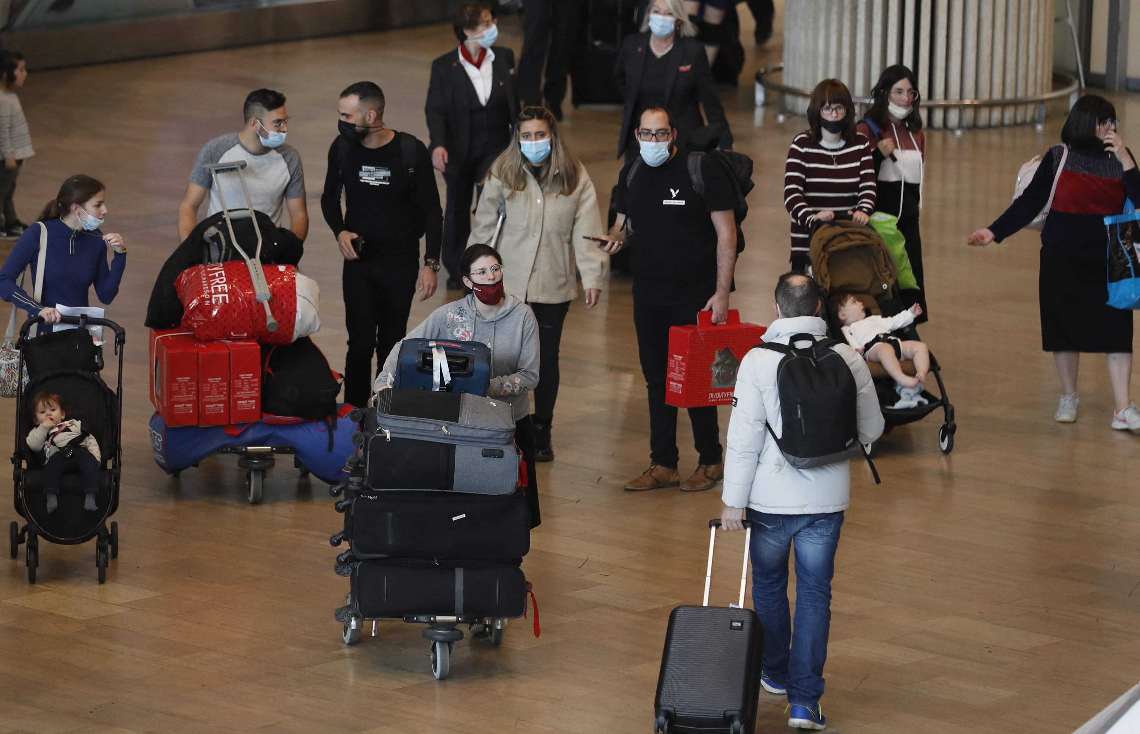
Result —
POLYGON ((513 495, 364 490, 344 511, 344 535, 359 560, 519 558, 530 552, 530 512, 513 495))

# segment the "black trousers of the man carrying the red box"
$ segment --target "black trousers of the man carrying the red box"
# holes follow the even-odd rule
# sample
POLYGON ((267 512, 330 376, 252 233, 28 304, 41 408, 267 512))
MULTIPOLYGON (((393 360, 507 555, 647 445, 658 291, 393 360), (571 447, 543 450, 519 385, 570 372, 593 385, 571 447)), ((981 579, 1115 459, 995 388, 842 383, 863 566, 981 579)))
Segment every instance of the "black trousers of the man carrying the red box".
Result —
MULTIPOLYGON (((634 299, 634 328, 637 331, 637 353, 649 390, 650 458, 669 468, 677 467, 677 409, 665 402, 665 383, 669 362, 669 327, 697 323, 697 312, 706 300, 683 304, 656 305, 634 299)), ((539 376, 542 373, 539 373, 539 376)), ((693 424, 693 447, 701 464, 719 464, 723 457, 720 427, 716 407, 689 408, 693 424)))

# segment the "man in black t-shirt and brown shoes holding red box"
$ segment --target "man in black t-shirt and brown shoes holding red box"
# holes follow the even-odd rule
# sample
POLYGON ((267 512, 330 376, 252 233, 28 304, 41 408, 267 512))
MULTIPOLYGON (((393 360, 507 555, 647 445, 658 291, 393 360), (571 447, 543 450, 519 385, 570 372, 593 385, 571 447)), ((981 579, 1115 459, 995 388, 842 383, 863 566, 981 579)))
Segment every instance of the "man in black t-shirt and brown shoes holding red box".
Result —
MULTIPOLYGON (((614 239, 633 233, 637 242, 634 327, 649 389, 650 465, 625 486, 629 491, 678 483, 677 409, 665 402, 669 327, 695 324, 698 311, 712 311, 712 323, 724 324, 736 264, 736 194, 720 166, 703 158, 705 194, 697 194, 687 154, 677 150, 677 131, 661 107, 642 113, 636 136, 641 155, 621 171, 610 231, 614 239)), ((681 489, 711 489, 724 475, 716 408, 689 408, 689 418, 700 465, 681 489)))

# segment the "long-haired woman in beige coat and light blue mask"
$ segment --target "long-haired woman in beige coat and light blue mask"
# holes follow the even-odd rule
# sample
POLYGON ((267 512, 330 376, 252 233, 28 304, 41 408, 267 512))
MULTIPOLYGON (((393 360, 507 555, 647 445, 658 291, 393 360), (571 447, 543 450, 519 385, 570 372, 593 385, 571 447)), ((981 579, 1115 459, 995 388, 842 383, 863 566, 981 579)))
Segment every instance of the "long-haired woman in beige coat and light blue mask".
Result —
POLYGON ((491 164, 467 245, 487 243, 503 255, 506 293, 526 301, 538 320, 539 380, 535 389, 535 458, 549 462, 551 422, 559 394, 559 343, 570 302, 597 304, 610 256, 597 194, 586 168, 559 136, 543 107, 519 113, 512 145, 491 164), (499 214, 503 226, 495 238, 499 214))

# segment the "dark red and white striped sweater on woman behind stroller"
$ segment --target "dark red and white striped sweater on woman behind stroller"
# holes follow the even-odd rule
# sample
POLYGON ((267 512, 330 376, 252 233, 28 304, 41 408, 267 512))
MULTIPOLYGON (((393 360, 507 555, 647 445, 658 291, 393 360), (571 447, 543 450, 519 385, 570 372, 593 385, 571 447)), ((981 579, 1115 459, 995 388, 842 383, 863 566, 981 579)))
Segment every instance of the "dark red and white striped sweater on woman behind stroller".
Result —
POLYGON ((792 255, 806 255, 808 230, 819 210, 874 212, 874 161, 871 144, 855 141, 831 150, 801 132, 791 141, 784 166, 784 207, 791 214, 792 255))

